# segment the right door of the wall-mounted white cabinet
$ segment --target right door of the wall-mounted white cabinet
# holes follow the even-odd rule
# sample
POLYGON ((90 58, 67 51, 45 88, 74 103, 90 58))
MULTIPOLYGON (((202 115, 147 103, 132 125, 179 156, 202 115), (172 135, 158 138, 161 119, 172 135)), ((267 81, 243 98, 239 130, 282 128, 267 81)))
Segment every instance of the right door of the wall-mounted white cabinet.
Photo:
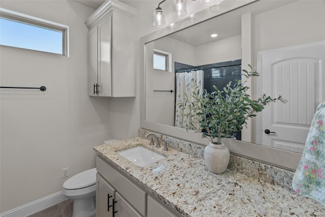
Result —
POLYGON ((99 40, 99 94, 102 97, 112 96, 112 63, 111 63, 111 49, 112 49, 112 16, 105 15, 98 22, 98 40, 99 40))

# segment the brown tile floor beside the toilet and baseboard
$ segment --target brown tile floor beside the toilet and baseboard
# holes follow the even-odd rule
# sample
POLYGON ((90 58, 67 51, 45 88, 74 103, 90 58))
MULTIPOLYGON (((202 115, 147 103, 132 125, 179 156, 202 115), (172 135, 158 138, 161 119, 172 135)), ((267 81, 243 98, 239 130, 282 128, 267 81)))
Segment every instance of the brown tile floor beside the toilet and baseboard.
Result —
MULTIPOLYGON (((27 217, 71 217, 72 210, 73 200, 66 200, 27 217)), ((91 217, 96 217, 96 214, 91 217)))

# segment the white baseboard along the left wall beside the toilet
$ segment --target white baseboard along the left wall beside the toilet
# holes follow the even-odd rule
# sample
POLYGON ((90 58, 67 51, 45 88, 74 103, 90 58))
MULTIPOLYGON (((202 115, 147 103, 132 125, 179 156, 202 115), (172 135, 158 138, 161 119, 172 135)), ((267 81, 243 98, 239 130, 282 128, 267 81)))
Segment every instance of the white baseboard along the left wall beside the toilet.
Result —
POLYGON ((63 202, 67 200, 62 192, 58 192, 47 197, 41 198, 39 200, 33 201, 31 203, 27 203, 25 205, 19 206, 15 209, 9 210, 7 212, 1 213, 0 217, 21 217, 28 216, 34 214, 35 212, 39 212, 43 209, 51 207, 55 204, 63 202))

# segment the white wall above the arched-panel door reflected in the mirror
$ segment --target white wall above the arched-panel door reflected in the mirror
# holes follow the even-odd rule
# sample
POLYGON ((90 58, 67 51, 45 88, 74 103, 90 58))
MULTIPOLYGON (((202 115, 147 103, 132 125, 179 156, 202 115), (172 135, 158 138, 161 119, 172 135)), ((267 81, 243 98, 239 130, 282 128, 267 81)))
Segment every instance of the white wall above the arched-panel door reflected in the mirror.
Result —
POLYGON ((325 1, 298 1, 253 17, 254 54, 325 40, 324 36, 325 1))

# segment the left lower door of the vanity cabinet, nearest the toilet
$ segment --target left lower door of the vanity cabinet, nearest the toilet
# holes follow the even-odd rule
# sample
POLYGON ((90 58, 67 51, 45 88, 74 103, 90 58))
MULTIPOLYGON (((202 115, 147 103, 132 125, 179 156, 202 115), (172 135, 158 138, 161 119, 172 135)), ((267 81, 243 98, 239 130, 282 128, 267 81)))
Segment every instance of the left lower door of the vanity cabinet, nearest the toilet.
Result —
POLYGON ((113 216, 115 189, 101 175, 96 174, 96 217, 113 216))

